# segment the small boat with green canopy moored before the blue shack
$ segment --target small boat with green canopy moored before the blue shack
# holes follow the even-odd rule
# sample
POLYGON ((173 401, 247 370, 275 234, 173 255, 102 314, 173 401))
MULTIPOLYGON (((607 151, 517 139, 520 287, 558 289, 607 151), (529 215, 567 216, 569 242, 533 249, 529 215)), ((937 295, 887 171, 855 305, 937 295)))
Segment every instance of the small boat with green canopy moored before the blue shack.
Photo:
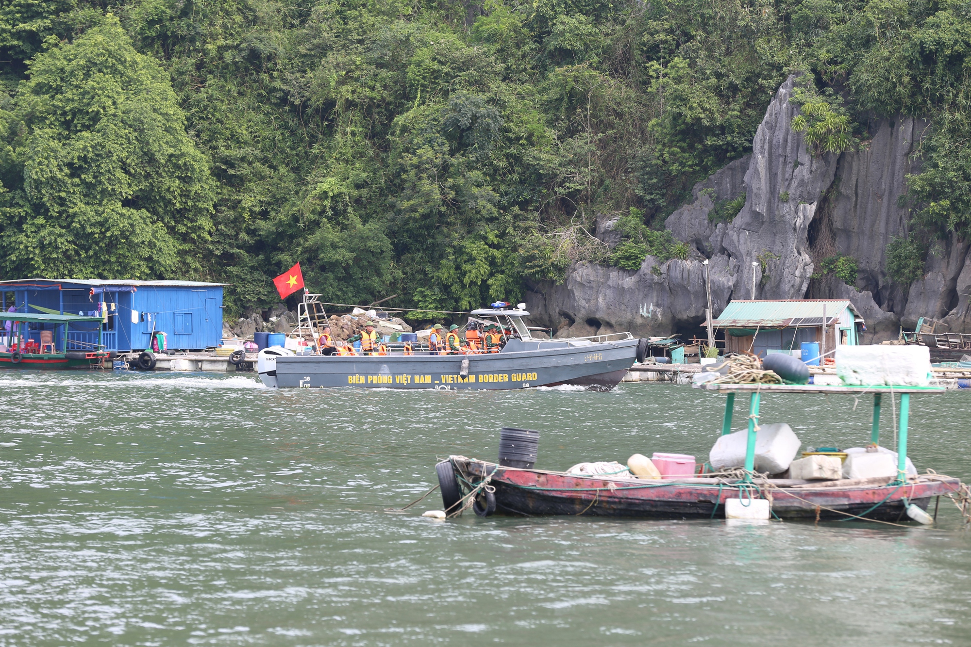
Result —
POLYGON ((102 366, 114 356, 101 343, 101 317, 74 314, 27 314, 2 312, 0 322, 10 321, 8 333, 3 326, 0 368, 6 369, 90 369, 102 366), (77 339, 71 326, 96 328, 98 342, 77 339))

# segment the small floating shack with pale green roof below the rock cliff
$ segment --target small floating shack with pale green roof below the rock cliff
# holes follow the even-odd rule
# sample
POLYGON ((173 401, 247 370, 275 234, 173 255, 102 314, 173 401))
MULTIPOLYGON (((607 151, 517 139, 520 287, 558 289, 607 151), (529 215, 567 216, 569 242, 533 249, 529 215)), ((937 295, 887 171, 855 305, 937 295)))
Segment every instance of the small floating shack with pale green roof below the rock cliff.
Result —
POLYGON ((733 301, 712 323, 724 330, 725 351, 764 357, 768 351, 798 356, 803 342, 819 343, 820 355, 837 344, 856 345, 863 319, 849 301, 792 299, 733 301))

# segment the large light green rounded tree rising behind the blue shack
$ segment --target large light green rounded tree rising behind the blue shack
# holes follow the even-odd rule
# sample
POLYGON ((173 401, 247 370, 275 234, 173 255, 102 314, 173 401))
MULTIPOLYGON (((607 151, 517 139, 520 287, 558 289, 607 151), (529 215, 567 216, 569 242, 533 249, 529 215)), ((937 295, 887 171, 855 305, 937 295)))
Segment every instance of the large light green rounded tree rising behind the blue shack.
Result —
POLYGON ((111 16, 29 70, 2 114, 5 271, 190 274, 213 186, 165 73, 111 16))

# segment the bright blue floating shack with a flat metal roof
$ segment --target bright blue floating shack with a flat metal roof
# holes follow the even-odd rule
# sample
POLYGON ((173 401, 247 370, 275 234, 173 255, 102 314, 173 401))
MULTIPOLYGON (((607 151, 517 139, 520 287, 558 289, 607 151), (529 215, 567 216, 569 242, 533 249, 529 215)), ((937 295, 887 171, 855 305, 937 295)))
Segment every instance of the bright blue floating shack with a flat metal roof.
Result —
MULTIPOLYGON (((222 339, 222 287, 225 283, 30 278, 0 281, 2 306, 18 312, 95 314, 104 323, 108 350, 144 350, 152 331, 166 334, 168 347, 203 350, 222 339), (14 304, 8 293, 14 293, 14 304), (105 304, 102 312, 101 304, 105 304)), ((72 325, 69 344, 97 342, 97 323, 72 325)))

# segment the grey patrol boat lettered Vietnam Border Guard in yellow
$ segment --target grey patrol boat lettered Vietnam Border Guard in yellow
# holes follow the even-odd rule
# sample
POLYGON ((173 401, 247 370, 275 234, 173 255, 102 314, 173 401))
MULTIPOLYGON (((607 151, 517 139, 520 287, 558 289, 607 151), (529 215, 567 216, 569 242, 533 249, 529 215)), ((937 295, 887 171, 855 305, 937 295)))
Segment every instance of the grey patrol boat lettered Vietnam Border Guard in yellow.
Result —
POLYGON ((274 389, 351 386, 456 391, 573 384, 610 390, 647 352, 647 340, 630 333, 534 339, 522 320, 529 316, 524 307, 503 305, 469 313, 469 321, 480 327, 498 325, 512 333, 504 335, 499 352, 445 355, 416 348, 412 354, 392 349, 372 355, 297 355, 273 346, 260 351, 257 370, 263 383, 274 389))

